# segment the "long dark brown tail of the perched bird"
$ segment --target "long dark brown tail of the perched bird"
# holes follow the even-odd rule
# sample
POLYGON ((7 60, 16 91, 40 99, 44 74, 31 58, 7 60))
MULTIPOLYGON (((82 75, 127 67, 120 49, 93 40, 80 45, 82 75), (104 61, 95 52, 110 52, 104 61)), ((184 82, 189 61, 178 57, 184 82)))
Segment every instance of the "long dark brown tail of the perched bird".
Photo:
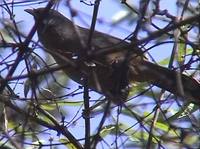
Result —
POLYGON ((200 104, 200 83, 178 71, 145 60, 133 61, 130 65, 130 80, 151 82, 185 100, 200 104))

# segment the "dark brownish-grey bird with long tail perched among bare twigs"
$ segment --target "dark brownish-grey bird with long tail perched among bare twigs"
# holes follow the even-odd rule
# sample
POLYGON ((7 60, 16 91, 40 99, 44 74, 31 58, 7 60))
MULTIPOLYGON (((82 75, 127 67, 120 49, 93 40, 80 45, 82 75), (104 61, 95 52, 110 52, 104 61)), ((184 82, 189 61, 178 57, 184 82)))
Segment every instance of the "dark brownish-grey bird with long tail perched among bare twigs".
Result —
POLYGON ((200 103, 200 83, 196 79, 150 62, 138 47, 124 50, 117 46, 129 42, 94 31, 87 46, 90 30, 75 25, 60 12, 45 8, 25 11, 34 17, 39 41, 56 63, 68 64, 63 71, 81 85, 87 77, 88 87, 113 103, 125 102, 134 82, 148 82, 184 101, 200 103), (95 55, 107 47, 112 52, 95 55))

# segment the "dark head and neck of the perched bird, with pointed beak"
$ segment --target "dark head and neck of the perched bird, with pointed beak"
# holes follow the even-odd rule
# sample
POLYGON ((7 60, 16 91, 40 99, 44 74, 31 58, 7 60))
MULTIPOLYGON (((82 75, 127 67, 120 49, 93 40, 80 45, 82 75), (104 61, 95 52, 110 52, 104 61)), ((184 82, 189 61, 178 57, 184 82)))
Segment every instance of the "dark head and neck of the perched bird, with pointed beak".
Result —
POLYGON ((74 51, 80 49, 73 23, 56 10, 46 8, 26 9, 37 25, 40 42, 47 49, 74 51))

